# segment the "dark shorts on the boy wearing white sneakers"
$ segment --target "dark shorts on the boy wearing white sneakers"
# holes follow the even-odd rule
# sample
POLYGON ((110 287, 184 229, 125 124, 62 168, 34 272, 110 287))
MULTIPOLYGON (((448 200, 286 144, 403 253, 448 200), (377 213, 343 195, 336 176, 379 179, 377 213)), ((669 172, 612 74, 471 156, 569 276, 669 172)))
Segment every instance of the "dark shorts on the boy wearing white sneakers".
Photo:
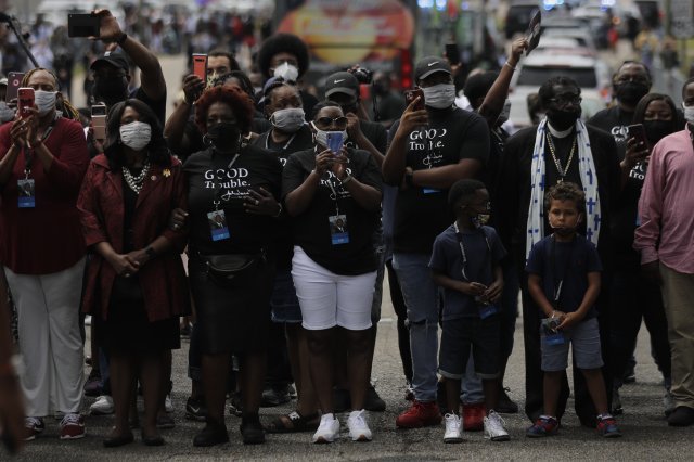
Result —
POLYGON ((449 378, 462 378, 472 349, 477 375, 481 378, 496 378, 499 375, 500 329, 499 313, 484 320, 458 318, 444 321, 439 373, 449 378))

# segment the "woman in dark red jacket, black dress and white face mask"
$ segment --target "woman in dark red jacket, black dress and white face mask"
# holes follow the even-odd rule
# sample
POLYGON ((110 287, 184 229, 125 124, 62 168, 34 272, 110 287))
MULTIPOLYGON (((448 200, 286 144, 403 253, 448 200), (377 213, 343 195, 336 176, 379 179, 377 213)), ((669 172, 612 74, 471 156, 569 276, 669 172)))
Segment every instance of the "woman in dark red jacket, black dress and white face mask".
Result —
POLYGON ((142 440, 159 446, 168 350, 180 347, 178 318, 190 298, 180 253, 184 228, 168 227, 174 208, 187 208, 184 177, 158 119, 139 100, 108 114, 104 154, 92 161, 78 200, 85 242, 93 249, 83 310, 111 365, 116 423, 106 447, 133 440, 129 406, 139 377, 144 392, 142 440))

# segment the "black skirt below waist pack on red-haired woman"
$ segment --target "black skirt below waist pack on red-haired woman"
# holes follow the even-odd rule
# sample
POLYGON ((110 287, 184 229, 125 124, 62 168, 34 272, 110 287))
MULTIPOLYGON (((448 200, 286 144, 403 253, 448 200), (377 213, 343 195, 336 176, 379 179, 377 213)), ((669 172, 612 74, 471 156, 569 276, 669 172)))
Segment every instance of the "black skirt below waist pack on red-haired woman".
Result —
POLYGON ((274 264, 257 266, 240 287, 221 287, 200 257, 188 261, 203 355, 256 352, 268 348, 274 264))

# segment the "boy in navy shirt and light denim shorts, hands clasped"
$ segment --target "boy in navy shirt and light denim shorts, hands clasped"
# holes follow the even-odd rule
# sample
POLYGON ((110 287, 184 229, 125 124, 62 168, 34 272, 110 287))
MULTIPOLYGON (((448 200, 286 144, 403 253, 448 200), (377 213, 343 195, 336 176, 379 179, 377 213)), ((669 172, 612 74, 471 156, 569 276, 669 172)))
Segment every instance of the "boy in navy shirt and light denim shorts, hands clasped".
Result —
POLYGON ((558 183, 545 194, 544 209, 554 232, 532 246, 526 267, 528 292, 547 317, 540 326, 544 414, 526 436, 556 434, 556 403, 570 343, 597 412, 597 432, 618 437, 621 434, 607 410, 594 307, 602 265, 595 246, 576 232, 586 213, 586 195, 574 183, 558 183))

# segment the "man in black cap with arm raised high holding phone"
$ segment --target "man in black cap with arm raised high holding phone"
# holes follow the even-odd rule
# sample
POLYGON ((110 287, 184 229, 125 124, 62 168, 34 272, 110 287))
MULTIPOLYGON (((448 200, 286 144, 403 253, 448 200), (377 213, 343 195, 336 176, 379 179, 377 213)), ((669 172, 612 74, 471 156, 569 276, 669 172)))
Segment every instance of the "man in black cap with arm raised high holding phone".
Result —
POLYGON ((91 102, 111 107, 128 98, 146 103, 156 114, 162 126, 166 121, 166 80, 157 57, 142 43, 120 29, 118 21, 108 10, 95 10, 101 18, 99 39, 107 44, 107 51, 90 66, 94 80, 91 102), (125 54, 113 53, 118 46, 125 54), (129 92, 130 65, 128 59, 140 69, 141 86, 129 92))

